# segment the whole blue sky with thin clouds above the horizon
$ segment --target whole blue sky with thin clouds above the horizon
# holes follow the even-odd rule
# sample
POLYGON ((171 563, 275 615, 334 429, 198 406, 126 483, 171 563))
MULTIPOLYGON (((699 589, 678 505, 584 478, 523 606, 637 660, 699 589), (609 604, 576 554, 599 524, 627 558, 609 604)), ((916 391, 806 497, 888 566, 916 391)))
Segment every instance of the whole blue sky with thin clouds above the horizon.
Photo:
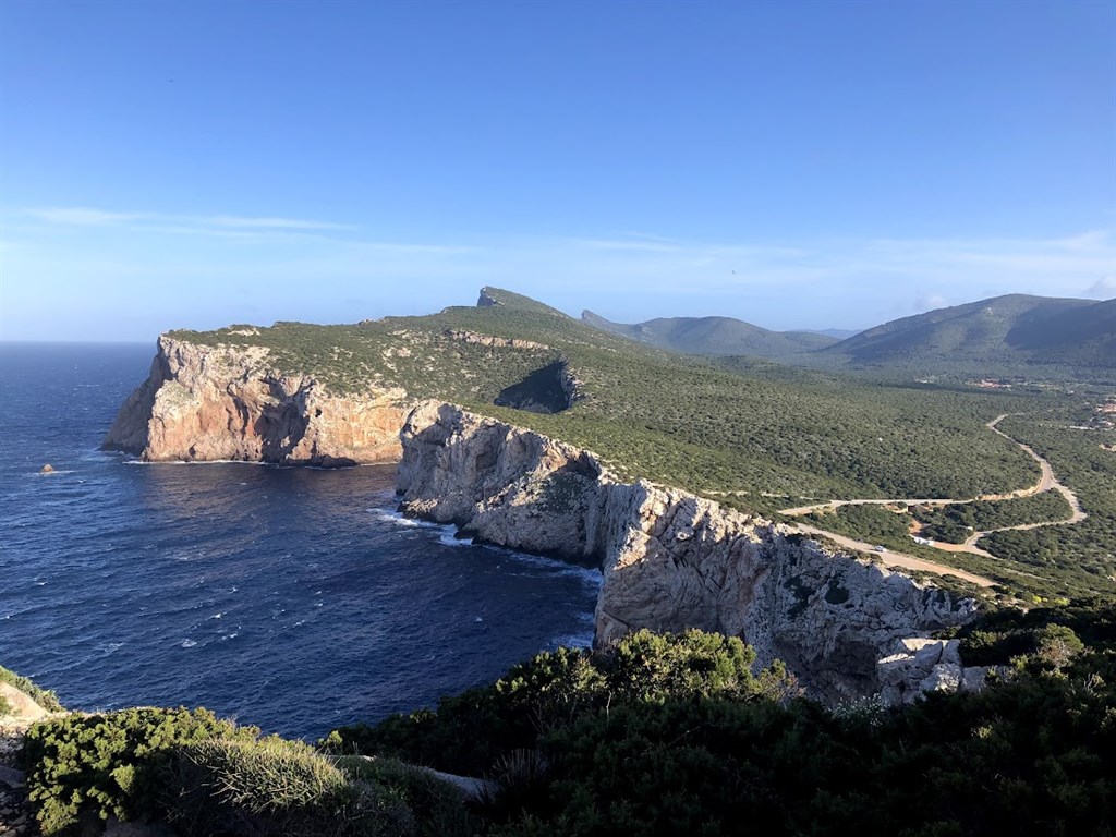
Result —
POLYGON ((0 2, 0 339, 1116 295, 1116 3, 0 2))

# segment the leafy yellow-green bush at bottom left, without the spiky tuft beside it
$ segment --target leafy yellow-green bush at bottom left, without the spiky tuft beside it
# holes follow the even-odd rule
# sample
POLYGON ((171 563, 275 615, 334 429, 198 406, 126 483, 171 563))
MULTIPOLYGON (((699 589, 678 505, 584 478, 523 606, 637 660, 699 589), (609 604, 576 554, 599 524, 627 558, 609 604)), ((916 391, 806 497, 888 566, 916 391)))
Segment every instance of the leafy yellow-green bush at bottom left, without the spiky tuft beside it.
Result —
POLYGON ((71 714, 35 724, 21 758, 42 833, 65 834, 110 816, 155 816, 174 752, 218 737, 252 739, 256 731, 182 708, 71 714))

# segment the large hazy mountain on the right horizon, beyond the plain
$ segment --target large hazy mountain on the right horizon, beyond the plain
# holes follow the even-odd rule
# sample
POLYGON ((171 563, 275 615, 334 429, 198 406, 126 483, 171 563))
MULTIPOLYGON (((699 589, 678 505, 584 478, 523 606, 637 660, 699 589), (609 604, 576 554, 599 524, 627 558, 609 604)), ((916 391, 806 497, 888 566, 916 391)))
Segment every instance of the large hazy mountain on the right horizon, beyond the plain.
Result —
POLYGON ((907 360, 1116 366, 1116 299, 1010 294, 885 323, 821 350, 857 364, 907 360))

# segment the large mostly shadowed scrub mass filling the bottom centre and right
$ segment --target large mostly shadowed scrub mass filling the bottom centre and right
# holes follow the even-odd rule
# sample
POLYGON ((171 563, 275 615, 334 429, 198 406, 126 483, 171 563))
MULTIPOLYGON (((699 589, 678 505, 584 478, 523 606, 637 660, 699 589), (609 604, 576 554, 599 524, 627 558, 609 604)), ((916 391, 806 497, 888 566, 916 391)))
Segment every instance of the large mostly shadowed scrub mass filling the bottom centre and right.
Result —
POLYGON ((912 706, 829 710, 778 668, 752 676, 738 641, 641 632, 327 743, 480 770, 496 780, 482 833, 500 837, 1112 837, 1113 608, 1071 614, 1093 642, 1051 629, 1056 614, 1000 618, 1047 625, 1032 652, 990 655, 1011 677, 912 706))

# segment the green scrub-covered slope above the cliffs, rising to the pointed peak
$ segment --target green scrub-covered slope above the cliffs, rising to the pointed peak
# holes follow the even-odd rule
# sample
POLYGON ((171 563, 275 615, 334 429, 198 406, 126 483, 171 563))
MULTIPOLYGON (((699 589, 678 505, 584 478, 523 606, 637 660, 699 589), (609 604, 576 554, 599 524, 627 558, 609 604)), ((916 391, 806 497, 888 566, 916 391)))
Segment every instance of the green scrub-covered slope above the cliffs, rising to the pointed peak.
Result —
MULTIPOLYGON (((175 336, 268 346, 283 372, 314 374, 337 392, 401 386, 411 397, 454 401, 587 448, 624 479, 766 514, 810 499, 971 498, 1038 480, 1037 465, 984 423, 1002 413, 1040 415, 1057 403, 1049 396, 888 386, 766 360, 681 356, 507 291, 485 289, 483 298, 490 304, 355 326, 280 323, 258 334, 175 336), (547 376, 560 368, 579 382, 573 405, 554 401, 547 376), (523 393, 538 396, 525 398, 531 410, 556 412, 496 405, 523 393)), ((925 549, 932 559, 942 555, 925 549)), ((1038 571, 1028 562, 1028 576, 977 557, 949 560, 1011 589, 1061 595, 1067 588, 1055 579, 1075 555, 1038 571)), ((1089 561, 1087 576, 1072 574, 1074 589, 1089 589, 1089 579, 1116 588, 1108 578, 1116 559, 1090 552, 1089 561)))

